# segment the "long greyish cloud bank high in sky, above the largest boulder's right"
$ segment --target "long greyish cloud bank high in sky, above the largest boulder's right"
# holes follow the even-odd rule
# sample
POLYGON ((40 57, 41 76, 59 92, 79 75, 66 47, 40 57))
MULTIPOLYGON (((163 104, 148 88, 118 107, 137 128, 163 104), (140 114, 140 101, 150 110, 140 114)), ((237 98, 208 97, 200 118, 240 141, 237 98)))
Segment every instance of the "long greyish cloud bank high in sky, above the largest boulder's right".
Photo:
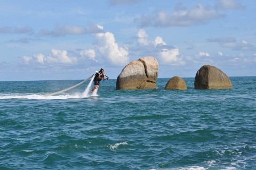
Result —
POLYGON ((141 27, 170 27, 204 24, 222 17, 223 15, 214 8, 205 7, 202 4, 197 4, 192 8, 178 4, 171 14, 166 11, 159 11, 155 15, 143 15, 134 21, 139 22, 141 27))

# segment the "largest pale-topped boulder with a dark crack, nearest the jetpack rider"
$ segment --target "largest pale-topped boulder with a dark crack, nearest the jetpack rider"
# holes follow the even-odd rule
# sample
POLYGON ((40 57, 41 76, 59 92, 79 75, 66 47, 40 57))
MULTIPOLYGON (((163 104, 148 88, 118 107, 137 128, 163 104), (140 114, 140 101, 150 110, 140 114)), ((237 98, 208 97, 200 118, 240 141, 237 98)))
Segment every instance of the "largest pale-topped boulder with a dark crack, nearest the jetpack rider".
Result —
POLYGON ((158 62, 154 57, 142 57, 124 67, 118 75, 116 89, 156 89, 158 62))

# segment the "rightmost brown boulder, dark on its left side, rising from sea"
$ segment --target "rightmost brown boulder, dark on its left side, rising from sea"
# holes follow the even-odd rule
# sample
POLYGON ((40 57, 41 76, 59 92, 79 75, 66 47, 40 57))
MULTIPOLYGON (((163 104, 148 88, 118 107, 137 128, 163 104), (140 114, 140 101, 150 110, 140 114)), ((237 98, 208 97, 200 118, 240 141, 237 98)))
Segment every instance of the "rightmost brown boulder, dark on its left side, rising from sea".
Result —
POLYGON ((230 89, 232 83, 220 69, 204 65, 196 73, 195 89, 230 89))

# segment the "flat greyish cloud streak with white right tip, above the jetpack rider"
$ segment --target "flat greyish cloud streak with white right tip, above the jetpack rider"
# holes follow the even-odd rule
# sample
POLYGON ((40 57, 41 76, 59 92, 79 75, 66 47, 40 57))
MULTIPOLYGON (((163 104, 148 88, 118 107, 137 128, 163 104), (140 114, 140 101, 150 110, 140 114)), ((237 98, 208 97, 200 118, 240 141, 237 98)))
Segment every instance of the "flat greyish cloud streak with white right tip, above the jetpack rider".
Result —
POLYGON ((66 36, 66 35, 84 35, 90 33, 102 32, 103 26, 97 24, 89 24, 89 29, 78 26, 56 25, 54 30, 42 29, 39 31, 41 36, 66 36))

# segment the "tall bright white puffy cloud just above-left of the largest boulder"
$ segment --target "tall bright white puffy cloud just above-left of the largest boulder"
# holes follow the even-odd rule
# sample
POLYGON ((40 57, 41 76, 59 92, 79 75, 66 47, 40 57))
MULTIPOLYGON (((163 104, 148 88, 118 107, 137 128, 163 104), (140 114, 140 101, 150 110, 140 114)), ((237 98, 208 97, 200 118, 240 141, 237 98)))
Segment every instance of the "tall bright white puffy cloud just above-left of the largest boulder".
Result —
POLYGON ((129 61, 129 52, 118 46, 113 33, 96 33, 95 38, 97 41, 95 47, 102 56, 108 58, 111 64, 118 66, 127 64, 129 61))

